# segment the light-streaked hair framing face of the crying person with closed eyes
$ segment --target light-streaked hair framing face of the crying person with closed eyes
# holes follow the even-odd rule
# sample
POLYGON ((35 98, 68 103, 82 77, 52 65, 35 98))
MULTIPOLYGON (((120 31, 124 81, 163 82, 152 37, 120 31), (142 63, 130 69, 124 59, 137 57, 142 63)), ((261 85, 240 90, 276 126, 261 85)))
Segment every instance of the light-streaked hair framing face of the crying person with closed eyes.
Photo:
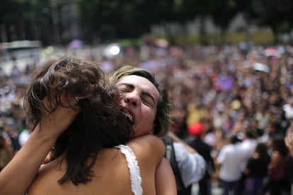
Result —
POLYGON ((122 68, 118 69, 110 76, 110 81, 112 83, 117 83, 117 81, 123 76, 142 76, 149 80, 154 84, 156 89, 159 91, 159 102, 156 109, 156 119, 155 119, 155 129, 154 135, 163 137, 166 136, 169 131, 172 121, 171 121, 171 101, 168 97, 167 90, 159 88, 159 83, 156 81, 156 78, 153 73, 146 71, 144 69, 140 69, 137 67, 133 67, 130 65, 124 65, 122 68))

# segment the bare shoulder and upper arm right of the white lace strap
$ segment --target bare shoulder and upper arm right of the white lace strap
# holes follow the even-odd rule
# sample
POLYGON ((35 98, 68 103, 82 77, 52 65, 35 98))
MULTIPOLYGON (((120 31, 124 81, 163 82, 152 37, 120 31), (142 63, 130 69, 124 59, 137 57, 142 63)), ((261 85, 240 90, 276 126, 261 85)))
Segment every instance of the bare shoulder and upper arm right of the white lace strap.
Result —
MULTIPOLYGON (((176 195, 175 177, 168 160, 163 158, 165 146, 161 138, 154 135, 140 136, 132 139, 127 145, 136 153, 141 173, 148 178, 144 180, 143 187, 153 188, 151 194, 176 195), (154 170, 151 170, 150 167, 153 167, 154 170), (151 182, 146 182, 147 180, 151 182)), ((150 191, 144 192, 150 193, 150 191)))

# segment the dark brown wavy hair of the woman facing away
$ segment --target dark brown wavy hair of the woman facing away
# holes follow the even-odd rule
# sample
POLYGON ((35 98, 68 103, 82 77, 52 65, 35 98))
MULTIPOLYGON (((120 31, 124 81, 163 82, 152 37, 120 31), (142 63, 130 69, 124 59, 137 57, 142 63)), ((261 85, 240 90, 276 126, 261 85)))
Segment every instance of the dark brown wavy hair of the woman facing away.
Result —
POLYGON ((30 129, 41 122, 44 110, 50 114, 57 107, 74 108, 64 105, 63 96, 74 97, 79 105, 78 116, 57 138, 51 151, 52 159, 66 153, 67 170, 58 182, 63 184, 70 179, 77 185, 91 181, 91 168, 100 149, 112 148, 132 138, 132 126, 119 105, 119 90, 105 79, 96 62, 83 57, 52 59, 33 75, 25 93, 30 129), (49 107, 45 107, 44 98, 49 107))

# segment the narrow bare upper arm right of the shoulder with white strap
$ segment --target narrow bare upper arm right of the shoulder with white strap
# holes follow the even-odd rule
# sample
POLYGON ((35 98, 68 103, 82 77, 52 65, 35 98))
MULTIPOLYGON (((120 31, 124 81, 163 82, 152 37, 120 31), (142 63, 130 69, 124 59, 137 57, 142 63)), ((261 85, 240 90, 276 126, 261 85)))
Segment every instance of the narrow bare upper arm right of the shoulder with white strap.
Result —
POLYGON ((176 180, 171 165, 166 158, 162 158, 156 167, 156 194, 157 195, 176 195, 176 180))

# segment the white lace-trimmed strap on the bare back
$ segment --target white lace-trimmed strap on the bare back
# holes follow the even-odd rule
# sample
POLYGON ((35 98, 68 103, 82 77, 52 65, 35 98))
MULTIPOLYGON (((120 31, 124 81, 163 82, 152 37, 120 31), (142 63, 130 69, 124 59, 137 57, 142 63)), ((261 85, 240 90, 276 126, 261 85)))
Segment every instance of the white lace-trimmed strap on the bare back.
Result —
POLYGON ((125 155, 127 166, 130 169, 131 189, 134 195, 142 194, 142 177, 140 176, 139 165, 137 158, 129 146, 119 145, 115 148, 120 148, 121 153, 125 155))

